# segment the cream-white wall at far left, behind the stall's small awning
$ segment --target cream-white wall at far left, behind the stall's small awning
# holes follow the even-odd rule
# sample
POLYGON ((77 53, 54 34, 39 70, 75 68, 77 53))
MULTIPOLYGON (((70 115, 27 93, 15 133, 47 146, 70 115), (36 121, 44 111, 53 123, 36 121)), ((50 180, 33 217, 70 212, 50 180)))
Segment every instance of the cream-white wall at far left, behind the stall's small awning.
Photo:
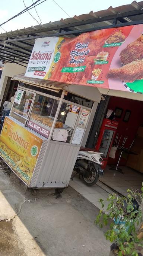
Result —
MULTIPOLYGON (((25 73, 26 67, 23 67, 16 63, 5 63, 3 67, 3 72, 0 78, 0 99, 2 101, 4 90, 6 88, 8 77, 12 77, 14 75, 25 73)), ((1 104, 1 102, 0 102, 1 104)))

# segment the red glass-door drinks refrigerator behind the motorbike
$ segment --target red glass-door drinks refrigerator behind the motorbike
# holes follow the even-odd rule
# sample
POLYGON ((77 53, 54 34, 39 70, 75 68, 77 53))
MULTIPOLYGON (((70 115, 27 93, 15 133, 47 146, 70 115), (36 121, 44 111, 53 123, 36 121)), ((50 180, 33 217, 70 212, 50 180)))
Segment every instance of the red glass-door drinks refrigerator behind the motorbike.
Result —
POLYGON ((105 169, 107 162, 108 162, 108 156, 110 149, 112 147, 114 138, 115 138, 115 133, 117 131, 118 127, 118 122, 117 121, 112 121, 109 119, 104 119, 100 132, 99 132, 99 137, 98 141, 96 144, 95 149, 99 150, 102 152, 103 155, 103 160, 104 160, 104 166, 103 169, 105 169))

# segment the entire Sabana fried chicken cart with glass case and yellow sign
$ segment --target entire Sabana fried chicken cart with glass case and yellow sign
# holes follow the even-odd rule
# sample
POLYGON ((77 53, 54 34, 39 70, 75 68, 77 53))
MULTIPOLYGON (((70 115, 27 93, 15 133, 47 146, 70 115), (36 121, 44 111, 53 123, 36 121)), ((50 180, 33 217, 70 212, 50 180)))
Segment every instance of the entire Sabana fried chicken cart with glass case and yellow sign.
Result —
POLYGON ((1 158, 28 187, 67 187, 93 105, 61 87, 19 82, 0 135, 1 158))

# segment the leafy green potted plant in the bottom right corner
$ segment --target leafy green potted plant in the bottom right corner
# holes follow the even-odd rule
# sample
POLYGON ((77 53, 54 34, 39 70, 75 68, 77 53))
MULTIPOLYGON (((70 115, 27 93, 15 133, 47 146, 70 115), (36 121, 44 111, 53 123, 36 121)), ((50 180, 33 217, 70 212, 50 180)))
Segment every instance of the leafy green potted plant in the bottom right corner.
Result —
MULTIPOLYGON (((107 209, 101 210, 96 217, 95 223, 100 228, 110 223, 109 230, 105 233, 105 238, 111 243, 114 242, 109 256, 142 255, 139 253, 143 247, 142 197, 142 193, 133 192, 130 189, 127 190, 127 198, 119 197, 115 193, 109 195, 107 209)), ((99 199, 99 202, 104 208, 105 201, 99 199)))

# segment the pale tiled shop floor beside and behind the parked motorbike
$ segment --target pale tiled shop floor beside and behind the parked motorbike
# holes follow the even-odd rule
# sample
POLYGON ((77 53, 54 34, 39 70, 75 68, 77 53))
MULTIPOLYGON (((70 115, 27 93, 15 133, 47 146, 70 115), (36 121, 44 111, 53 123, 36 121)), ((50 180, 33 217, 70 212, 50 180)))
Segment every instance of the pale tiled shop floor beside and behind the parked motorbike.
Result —
MULTIPOLYGON (((109 194, 114 193, 113 190, 124 196, 127 196, 127 189, 140 191, 143 181, 143 174, 136 172, 127 166, 123 166, 122 169, 124 174, 109 170, 109 166, 107 166, 104 177, 99 177, 99 181, 91 187, 86 186, 78 176, 74 177, 74 180, 71 180, 69 185, 96 207, 102 209, 101 204, 99 204, 99 198, 106 200, 109 194), (108 186, 113 190, 111 190, 108 186)), ((104 209, 102 210, 106 210, 107 205, 108 202, 105 202, 104 209)))

